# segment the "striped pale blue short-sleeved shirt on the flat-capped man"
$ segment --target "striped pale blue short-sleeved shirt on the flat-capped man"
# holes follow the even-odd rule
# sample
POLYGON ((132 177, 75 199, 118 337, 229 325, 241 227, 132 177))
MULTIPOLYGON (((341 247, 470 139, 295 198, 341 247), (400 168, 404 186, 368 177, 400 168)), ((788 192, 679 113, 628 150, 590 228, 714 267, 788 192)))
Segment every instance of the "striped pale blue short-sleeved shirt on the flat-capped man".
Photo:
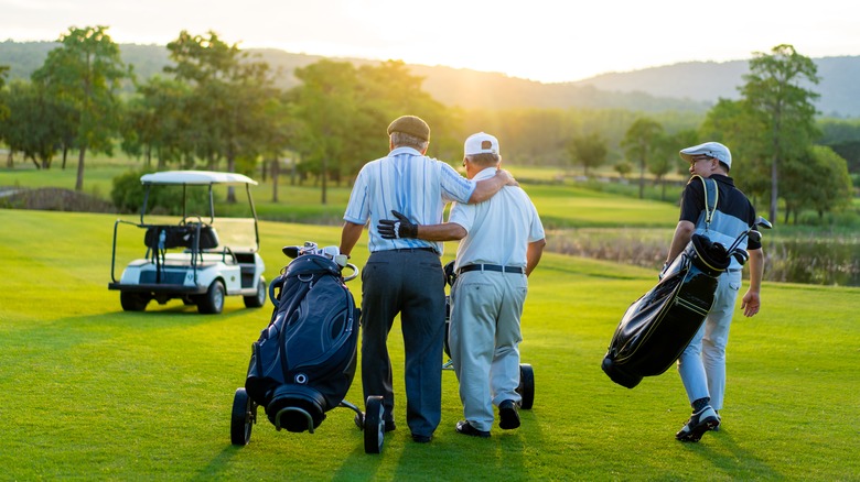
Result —
MULTIPOLYGON (((494 169, 495 173, 495 169, 494 169)), ((386 157, 362 167, 350 194, 345 221, 366 224, 370 252, 404 248, 432 248, 442 254, 442 243, 419 239, 383 239, 376 226, 402 212, 417 224, 439 224, 445 205, 469 202, 476 183, 461 176, 442 161, 421 155, 412 147, 397 147, 386 157)))

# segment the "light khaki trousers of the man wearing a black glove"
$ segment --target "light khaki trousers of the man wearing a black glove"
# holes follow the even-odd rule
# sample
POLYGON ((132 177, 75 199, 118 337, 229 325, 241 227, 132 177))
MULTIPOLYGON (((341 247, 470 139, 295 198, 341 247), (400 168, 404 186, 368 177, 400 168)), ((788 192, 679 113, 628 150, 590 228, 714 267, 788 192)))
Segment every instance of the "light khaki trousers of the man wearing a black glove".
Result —
POLYGON ((493 405, 519 402, 519 318, 525 274, 471 271, 451 288, 449 348, 463 416, 479 430, 493 425, 493 405))

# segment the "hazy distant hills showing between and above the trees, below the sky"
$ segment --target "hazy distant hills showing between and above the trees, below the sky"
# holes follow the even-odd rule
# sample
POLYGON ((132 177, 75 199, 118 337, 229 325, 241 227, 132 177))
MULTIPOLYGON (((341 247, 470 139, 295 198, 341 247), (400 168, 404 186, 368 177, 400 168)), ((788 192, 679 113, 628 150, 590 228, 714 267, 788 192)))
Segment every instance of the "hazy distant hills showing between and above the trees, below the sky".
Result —
MULTIPOLYGON (((44 62, 55 42, 0 42, 0 65, 10 66, 10 78, 26 78, 44 62)), ((122 58, 135 66, 139 79, 162 72, 169 64, 163 45, 121 44, 122 58)), ((266 48, 248 50, 280 72, 278 84, 288 89, 299 84, 297 67, 319 62, 322 56, 266 48)), ((375 61, 332 58, 358 64, 375 61)), ((814 59, 821 83, 818 109, 826 116, 860 118, 860 56, 814 59)), ((409 65, 423 77, 433 98, 463 108, 616 108, 632 111, 705 112, 720 98, 738 98, 738 86, 748 72, 748 61, 724 63, 688 62, 627 73, 599 75, 576 83, 542 84, 503 74, 444 66, 409 65)))

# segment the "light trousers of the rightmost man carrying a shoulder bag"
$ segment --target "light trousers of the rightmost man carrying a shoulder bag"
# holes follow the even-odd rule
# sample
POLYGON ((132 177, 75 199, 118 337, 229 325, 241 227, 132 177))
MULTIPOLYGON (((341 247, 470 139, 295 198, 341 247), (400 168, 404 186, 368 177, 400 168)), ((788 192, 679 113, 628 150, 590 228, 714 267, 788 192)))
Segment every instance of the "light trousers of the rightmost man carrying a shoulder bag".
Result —
POLYGON ((729 343, 734 303, 741 289, 741 275, 740 271, 720 275, 708 317, 678 358, 678 373, 690 404, 710 397, 711 407, 714 410, 722 409, 725 396, 725 346, 729 343))

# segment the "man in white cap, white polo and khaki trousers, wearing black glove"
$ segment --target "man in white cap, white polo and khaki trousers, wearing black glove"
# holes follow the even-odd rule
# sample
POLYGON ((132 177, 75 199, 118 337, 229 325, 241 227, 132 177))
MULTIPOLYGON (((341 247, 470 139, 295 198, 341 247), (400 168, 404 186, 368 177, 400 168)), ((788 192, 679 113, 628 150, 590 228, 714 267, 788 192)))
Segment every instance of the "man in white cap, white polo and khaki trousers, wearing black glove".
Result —
MULTIPOLYGON (((465 141, 463 165, 473 180, 492 177, 502 157, 498 140, 480 132, 465 141)), ((493 405, 502 429, 519 427, 519 318, 528 292, 527 276, 546 245, 535 205, 518 186, 506 186, 476 205, 455 202, 447 223, 411 224, 380 221, 383 237, 416 237, 432 241, 461 240, 451 288, 449 348, 460 381, 464 420, 459 434, 487 438, 493 405)))

